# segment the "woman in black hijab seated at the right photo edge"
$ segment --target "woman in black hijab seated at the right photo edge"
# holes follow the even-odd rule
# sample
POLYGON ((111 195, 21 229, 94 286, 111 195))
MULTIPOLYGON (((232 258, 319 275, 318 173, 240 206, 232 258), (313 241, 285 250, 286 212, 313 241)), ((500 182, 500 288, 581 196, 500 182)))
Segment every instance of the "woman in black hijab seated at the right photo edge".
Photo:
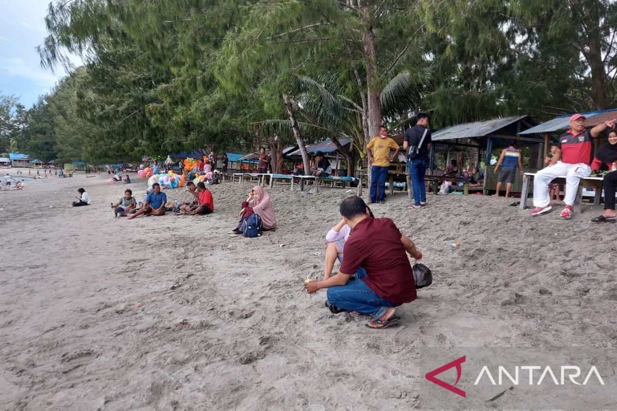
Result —
POLYGON ((615 222, 615 190, 617 189, 617 131, 608 133, 608 143, 600 147, 591 168, 599 170, 602 163, 608 166, 610 173, 604 176, 604 213, 592 219, 593 222, 615 222))

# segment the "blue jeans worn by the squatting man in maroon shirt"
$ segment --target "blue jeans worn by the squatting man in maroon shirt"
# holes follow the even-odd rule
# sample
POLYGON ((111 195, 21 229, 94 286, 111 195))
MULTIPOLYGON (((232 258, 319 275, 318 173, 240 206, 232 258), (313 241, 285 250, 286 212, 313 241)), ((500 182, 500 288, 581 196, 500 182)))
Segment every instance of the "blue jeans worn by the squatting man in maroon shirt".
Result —
POLYGON ((333 306, 355 311, 360 314, 372 315, 374 319, 386 314, 388 307, 398 307, 400 304, 391 303, 378 296, 359 277, 346 285, 337 285, 328 288, 328 301, 333 306))

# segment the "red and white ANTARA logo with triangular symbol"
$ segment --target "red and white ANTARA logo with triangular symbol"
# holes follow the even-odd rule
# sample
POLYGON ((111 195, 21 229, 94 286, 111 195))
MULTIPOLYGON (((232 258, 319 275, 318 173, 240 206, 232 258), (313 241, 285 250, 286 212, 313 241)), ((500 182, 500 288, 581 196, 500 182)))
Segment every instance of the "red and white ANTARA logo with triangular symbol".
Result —
MULTIPOLYGON (((458 381, 460 381, 463 374, 463 368, 461 364, 463 364, 465 360, 466 356, 462 356, 459 359, 453 360, 448 364, 442 365, 441 367, 434 369, 433 371, 426 374, 426 380, 431 381, 431 383, 437 384, 440 387, 447 389, 448 391, 452 391, 452 393, 462 396, 463 398, 466 398, 465 391, 456 387, 458 381), (445 381, 436 378, 436 375, 439 375, 442 372, 445 372, 453 367, 455 367, 457 370, 457 380, 453 385, 450 385, 449 383, 446 383, 445 381)), ((480 370, 478 378, 476 378, 476 381, 473 383, 473 385, 478 385, 482 378, 486 378, 488 381, 490 381, 491 385, 502 385, 502 382, 508 385, 541 385, 542 381, 544 380, 547 380, 549 383, 552 380, 552 383, 554 383, 555 385, 566 385, 566 383, 572 383, 574 385, 587 385, 587 383, 589 383, 589 380, 591 380, 592 377, 594 377, 598 381, 598 383, 600 383, 600 385, 605 385, 604 380, 602 380, 602 376, 600 376, 600 373, 598 372, 598 369, 595 367, 595 365, 592 365, 592 367, 589 368, 589 372, 586 373, 585 378, 582 378, 581 368, 576 365, 561 365, 560 372, 557 373, 560 378, 557 378, 557 375, 555 375, 552 368, 550 368, 548 365, 546 367, 541 367, 540 365, 516 365, 514 367, 514 370, 511 370, 511 372, 508 372, 507 368, 500 365, 499 367, 497 367, 497 373, 495 375, 497 375, 497 381, 495 381, 495 378, 491 374, 489 367, 487 367, 487 365, 484 365, 484 367, 482 367, 482 369, 480 370), (534 371, 537 372, 536 376, 539 375, 539 378, 537 378, 537 382, 535 383, 534 371), (529 376, 528 380, 524 378, 526 375, 529 376), (509 382, 504 381, 506 378, 507 380, 509 380, 509 382), (582 380, 582 382, 579 382, 579 380, 582 380)))

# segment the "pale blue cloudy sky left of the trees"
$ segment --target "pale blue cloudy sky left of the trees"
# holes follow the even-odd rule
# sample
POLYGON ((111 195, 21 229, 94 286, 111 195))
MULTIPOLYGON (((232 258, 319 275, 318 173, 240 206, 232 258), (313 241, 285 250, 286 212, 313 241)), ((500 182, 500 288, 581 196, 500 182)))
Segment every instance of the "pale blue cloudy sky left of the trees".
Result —
MULTIPOLYGON (((36 46, 47 35, 44 17, 50 0, 0 0, 0 94, 14 95, 25 107, 67 75, 41 68, 36 46)), ((79 59, 75 59, 79 62, 79 59)))

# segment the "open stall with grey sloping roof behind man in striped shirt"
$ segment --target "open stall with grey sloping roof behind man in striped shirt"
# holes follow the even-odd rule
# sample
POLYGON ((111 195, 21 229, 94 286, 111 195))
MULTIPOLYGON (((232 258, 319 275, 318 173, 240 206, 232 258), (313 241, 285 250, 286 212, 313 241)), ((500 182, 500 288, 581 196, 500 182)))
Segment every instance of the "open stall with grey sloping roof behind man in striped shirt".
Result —
MULTIPOLYGON (((528 155, 529 162, 525 165, 525 171, 542 166, 544 160, 544 138, 536 133, 529 133, 520 136, 520 133, 536 126, 537 122, 528 115, 495 118, 486 121, 474 121, 473 123, 457 124, 442 128, 433 132, 430 153, 430 165, 428 175, 431 176, 434 169, 435 153, 437 150, 447 150, 446 164, 454 158, 455 153, 460 152, 460 148, 467 147, 478 150, 478 156, 471 165, 476 169, 484 167, 484 179, 482 185, 471 188, 472 190, 482 190, 486 195, 489 190, 494 190, 497 183, 497 174, 493 173, 491 163, 492 157, 499 155, 501 149, 508 147, 511 140, 516 140, 517 147, 523 154, 528 155), (522 150, 530 148, 530 150, 522 150), (484 162, 481 165, 482 154, 484 162)), ((520 193, 523 188, 523 178, 517 174, 512 193, 520 193)))

